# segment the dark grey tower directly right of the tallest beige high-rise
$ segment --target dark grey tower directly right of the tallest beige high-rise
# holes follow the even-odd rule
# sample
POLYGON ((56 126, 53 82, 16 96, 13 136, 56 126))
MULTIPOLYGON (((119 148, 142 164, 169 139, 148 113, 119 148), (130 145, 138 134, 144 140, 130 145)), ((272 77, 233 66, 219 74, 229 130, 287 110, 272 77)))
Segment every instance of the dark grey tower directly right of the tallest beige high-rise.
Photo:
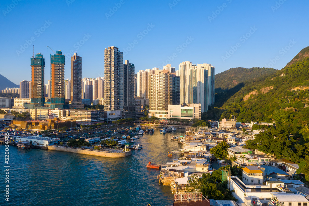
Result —
POLYGON ((124 66, 124 106, 135 106, 134 99, 134 64, 131 64, 129 60, 125 60, 124 66))

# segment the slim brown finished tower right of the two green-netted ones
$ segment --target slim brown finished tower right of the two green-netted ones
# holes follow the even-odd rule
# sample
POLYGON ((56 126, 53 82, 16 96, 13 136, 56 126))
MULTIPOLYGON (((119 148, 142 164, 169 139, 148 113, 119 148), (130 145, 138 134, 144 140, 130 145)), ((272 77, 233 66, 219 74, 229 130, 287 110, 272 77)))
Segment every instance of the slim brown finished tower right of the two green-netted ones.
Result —
POLYGON ((71 104, 82 103, 82 57, 74 52, 71 57, 71 104))

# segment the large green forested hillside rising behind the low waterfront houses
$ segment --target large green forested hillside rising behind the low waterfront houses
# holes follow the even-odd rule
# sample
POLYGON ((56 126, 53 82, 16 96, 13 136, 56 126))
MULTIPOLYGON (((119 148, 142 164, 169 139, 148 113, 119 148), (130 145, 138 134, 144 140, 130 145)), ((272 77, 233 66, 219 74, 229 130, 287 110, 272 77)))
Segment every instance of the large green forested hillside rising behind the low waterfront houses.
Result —
POLYGON ((216 113, 215 118, 221 113, 221 118, 234 115, 244 123, 275 123, 275 127, 269 126, 248 140, 245 147, 299 163, 297 173, 305 174, 302 181, 309 182, 309 47, 276 73, 244 82, 239 91, 204 118, 210 113, 216 113))

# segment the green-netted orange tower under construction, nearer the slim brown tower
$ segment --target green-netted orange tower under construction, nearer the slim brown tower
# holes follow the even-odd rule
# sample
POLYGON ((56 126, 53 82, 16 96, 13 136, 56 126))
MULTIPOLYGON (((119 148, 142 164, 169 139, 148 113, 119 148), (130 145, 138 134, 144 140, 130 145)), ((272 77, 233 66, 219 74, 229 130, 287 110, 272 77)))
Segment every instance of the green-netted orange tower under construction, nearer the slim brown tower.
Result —
POLYGON ((56 54, 50 54, 51 109, 63 108, 65 103, 64 65, 65 55, 62 55, 61 50, 56 51, 56 54))

